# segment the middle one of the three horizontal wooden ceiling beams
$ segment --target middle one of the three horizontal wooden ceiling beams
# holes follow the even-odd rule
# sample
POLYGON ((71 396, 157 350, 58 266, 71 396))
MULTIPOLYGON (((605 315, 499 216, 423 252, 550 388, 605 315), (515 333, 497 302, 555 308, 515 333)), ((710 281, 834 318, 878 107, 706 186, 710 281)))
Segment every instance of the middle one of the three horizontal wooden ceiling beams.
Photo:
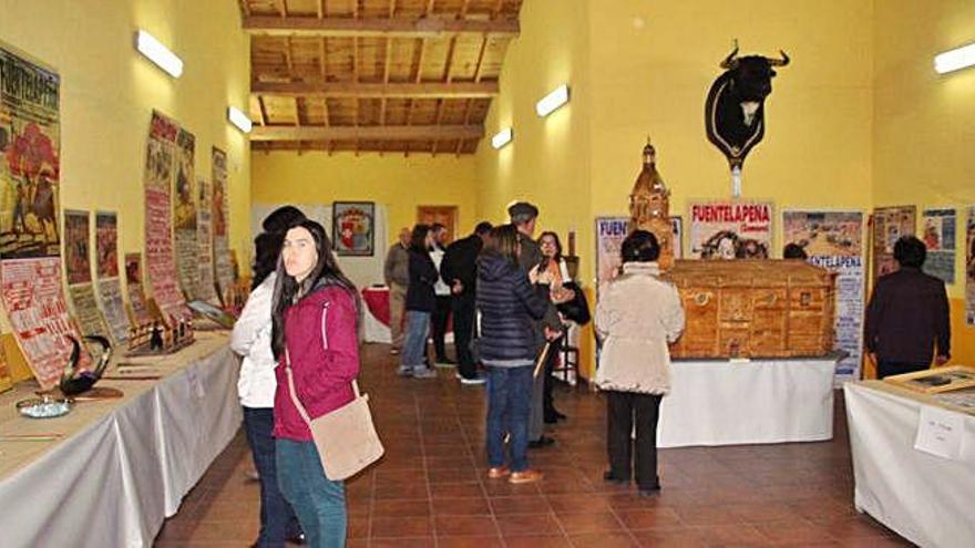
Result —
POLYGON ((490 99, 499 94, 497 82, 254 82, 253 95, 324 97, 490 99))

